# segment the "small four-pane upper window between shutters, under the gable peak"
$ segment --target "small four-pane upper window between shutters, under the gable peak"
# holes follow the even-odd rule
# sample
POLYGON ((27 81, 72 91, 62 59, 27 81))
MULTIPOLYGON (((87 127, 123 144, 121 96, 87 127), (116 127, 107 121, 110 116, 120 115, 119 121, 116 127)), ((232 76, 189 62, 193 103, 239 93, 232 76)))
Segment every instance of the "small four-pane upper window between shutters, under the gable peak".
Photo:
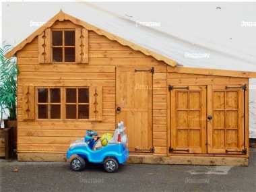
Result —
POLYGON ((75 62, 75 30, 53 30, 53 62, 75 62))

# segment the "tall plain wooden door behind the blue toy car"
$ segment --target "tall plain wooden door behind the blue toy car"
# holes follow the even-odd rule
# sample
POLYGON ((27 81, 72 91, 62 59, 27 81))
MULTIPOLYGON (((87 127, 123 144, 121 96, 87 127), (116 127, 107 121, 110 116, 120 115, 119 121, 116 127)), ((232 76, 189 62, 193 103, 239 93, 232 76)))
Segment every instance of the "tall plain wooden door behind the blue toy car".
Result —
POLYGON ((127 127, 129 152, 152 148, 152 72, 147 67, 117 67, 116 121, 127 127), (137 72, 135 72, 137 71, 137 72))

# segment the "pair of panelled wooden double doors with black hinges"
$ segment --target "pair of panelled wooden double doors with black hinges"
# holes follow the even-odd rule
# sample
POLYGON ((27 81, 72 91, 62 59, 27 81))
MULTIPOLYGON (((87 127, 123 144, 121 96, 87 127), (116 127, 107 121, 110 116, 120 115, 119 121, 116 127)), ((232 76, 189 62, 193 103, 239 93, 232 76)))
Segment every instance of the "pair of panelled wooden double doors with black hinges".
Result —
POLYGON ((245 87, 170 86, 169 90, 170 153, 245 153, 245 87))

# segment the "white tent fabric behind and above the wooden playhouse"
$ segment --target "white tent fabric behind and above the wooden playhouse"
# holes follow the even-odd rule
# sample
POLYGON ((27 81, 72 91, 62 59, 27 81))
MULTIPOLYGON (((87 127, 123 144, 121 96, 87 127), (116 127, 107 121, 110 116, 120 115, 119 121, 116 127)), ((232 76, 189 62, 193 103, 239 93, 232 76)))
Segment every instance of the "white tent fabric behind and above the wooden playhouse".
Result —
MULTIPOLYGON (((3 40, 17 45, 60 9, 185 67, 256 71, 256 3, 3 3, 3 40)), ((249 89, 256 138, 255 79, 249 89)))

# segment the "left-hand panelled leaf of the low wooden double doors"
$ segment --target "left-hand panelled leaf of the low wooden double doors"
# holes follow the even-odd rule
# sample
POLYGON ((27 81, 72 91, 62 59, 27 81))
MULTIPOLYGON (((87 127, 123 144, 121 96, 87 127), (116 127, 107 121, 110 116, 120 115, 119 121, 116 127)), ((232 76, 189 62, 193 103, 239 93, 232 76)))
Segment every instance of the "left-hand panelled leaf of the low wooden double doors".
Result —
POLYGON ((206 153, 206 86, 169 87, 170 153, 206 153))

